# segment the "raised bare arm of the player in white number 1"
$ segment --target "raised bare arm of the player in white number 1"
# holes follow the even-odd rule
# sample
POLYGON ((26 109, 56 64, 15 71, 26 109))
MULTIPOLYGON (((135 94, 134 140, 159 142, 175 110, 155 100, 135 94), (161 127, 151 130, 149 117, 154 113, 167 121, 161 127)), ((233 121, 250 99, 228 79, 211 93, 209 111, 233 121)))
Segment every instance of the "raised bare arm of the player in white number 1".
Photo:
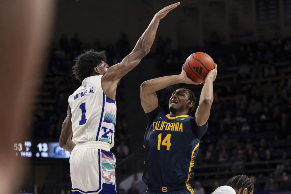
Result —
POLYGON ((154 42, 160 20, 178 5, 180 5, 179 2, 174 3, 156 13, 146 31, 137 41, 132 52, 127 55, 122 62, 110 67, 105 75, 103 75, 101 79, 102 89, 105 94, 109 96, 109 98, 114 97, 112 99, 115 99, 116 87, 113 86, 117 86, 119 80, 136 65, 138 65, 140 60, 149 53, 152 43, 154 42))

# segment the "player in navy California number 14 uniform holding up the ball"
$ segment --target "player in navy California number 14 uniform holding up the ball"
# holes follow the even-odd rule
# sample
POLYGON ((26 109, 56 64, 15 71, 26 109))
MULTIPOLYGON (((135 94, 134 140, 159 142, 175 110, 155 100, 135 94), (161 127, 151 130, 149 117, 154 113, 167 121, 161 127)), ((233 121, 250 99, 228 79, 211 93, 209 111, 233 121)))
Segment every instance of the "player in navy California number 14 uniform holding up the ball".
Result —
POLYGON ((204 79, 199 106, 195 116, 189 116, 196 103, 191 90, 177 89, 169 100, 170 114, 163 114, 156 91, 169 85, 200 84, 189 79, 182 67, 180 75, 151 79, 140 86, 140 98, 148 125, 144 136, 145 171, 143 181, 149 193, 192 193, 189 181, 193 179, 194 160, 199 142, 207 129, 207 120, 213 102, 213 85, 217 65, 204 79))

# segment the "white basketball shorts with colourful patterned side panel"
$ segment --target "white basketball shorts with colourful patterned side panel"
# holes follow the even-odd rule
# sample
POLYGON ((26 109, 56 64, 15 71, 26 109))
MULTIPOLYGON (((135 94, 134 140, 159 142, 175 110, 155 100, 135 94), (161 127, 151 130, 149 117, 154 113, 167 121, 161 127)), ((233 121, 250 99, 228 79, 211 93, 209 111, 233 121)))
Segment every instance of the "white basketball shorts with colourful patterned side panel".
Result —
POLYGON ((109 143, 76 144, 70 156, 72 194, 116 194, 115 164, 109 143))

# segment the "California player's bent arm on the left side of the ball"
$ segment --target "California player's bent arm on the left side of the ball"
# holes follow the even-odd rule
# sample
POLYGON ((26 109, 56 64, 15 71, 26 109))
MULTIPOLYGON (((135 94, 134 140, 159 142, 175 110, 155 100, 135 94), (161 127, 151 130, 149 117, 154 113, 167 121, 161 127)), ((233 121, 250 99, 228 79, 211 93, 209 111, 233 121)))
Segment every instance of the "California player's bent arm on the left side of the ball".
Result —
POLYGON ((184 65, 182 67, 182 72, 180 75, 170 75, 164 76, 156 79, 151 79, 145 81, 140 86, 140 102, 145 113, 152 112, 158 107, 159 101, 156 95, 156 91, 164 89, 169 85, 185 83, 185 84, 200 84, 199 82, 193 82, 187 77, 184 70, 184 65))

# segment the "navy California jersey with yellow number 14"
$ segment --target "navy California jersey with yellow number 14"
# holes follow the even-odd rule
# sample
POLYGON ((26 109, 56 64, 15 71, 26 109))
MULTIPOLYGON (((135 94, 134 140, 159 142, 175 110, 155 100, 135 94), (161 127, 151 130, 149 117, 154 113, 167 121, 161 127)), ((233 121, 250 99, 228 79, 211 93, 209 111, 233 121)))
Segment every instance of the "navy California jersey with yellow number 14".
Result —
POLYGON ((142 180, 149 186, 171 186, 193 179, 194 160, 207 122, 198 126, 195 117, 165 115, 158 106, 146 114, 144 136, 145 171, 142 180))

